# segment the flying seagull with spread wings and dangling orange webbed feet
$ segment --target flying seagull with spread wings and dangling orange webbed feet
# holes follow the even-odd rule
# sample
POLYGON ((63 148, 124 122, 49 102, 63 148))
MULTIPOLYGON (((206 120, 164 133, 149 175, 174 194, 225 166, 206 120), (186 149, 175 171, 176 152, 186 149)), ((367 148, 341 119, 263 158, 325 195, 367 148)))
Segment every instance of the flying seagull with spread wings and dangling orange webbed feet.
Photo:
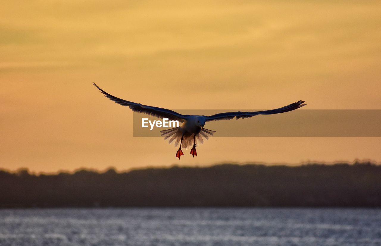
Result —
POLYGON ((181 125, 175 128, 166 129, 160 131, 162 134, 161 136, 164 136, 164 139, 169 139, 169 143, 175 141, 175 147, 179 144, 179 149, 176 152, 176 157, 179 158, 184 153, 182 153, 181 147, 187 149, 188 147, 192 146, 191 149, 191 155, 193 157, 197 156, 196 152, 196 138, 197 142, 200 144, 203 143, 204 139, 209 139, 210 136, 213 136, 213 134, 216 131, 205 129, 205 123, 207 121, 212 120, 231 120, 236 118, 238 119, 244 119, 244 118, 250 118, 255 115, 272 115, 274 113, 285 113, 288 111, 292 111, 295 109, 299 109, 300 107, 303 107, 305 104, 305 101, 297 101, 294 103, 291 103, 285 107, 281 107, 279 109, 271 109, 271 110, 264 110, 264 111, 254 111, 254 112, 227 112, 227 113, 217 113, 215 115, 205 116, 205 115, 182 115, 180 113, 174 112, 169 109, 163 109, 159 107, 153 107, 153 106, 147 106, 136 102, 130 102, 123 99, 120 99, 118 97, 112 96, 111 94, 107 93, 106 91, 102 90, 97 86, 95 83, 93 83, 96 88, 101 91, 104 96, 109 98, 111 101, 114 101, 117 104, 120 104, 122 106, 128 106, 131 110, 134 112, 139 113, 146 113, 147 115, 151 115, 158 118, 168 118, 169 120, 178 120, 181 125), (193 141, 192 141, 193 138, 193 141))

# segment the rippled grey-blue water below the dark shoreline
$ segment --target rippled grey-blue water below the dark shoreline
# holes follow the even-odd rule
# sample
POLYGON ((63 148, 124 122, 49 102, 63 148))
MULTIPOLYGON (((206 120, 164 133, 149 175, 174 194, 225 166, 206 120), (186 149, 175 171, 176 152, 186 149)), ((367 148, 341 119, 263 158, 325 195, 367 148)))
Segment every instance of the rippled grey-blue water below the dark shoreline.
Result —
POLYGON ((381 245, 381 209, 0 209, 0 245, 381 245))

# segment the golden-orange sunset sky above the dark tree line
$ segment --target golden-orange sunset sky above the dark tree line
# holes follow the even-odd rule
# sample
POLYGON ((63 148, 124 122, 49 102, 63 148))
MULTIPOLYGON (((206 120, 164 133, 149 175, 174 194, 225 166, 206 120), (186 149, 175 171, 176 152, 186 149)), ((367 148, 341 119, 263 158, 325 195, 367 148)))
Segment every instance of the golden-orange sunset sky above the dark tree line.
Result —
POLYGON ((381 161, 380 137, 212 137, 178 160, 162 138, 133 137, 133 112, 92 85, 168 109, 381 109, 380 13, 380 1, 4 1, 0 168, 381 161))

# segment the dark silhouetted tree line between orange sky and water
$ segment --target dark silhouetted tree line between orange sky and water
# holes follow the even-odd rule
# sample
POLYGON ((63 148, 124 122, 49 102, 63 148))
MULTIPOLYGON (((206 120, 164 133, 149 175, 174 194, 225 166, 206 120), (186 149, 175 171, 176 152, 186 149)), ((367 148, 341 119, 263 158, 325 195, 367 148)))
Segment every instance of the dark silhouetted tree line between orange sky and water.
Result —
POLYGON ((73 174, 0 171, 0 207, 381 205, 373 163, 148 168, 73 174))

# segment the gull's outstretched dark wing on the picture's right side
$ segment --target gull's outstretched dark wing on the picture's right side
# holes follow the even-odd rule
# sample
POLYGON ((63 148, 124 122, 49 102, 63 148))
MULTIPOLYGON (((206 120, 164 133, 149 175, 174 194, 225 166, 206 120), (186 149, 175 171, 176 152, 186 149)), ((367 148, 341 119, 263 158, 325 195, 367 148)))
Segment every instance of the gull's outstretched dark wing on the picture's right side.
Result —
POLYGON ((299 109, 300 107, 303 107, 306 105, 304 103, 305 101, 298 101, 291 103, 290 105, 287 105, 285 107, 279 108, 279 109, 271 109, 271 110, 264 110, 264 111, 255 111, 255 112, 228 112, 228 113, 217 113, 215 115, 207 116, 206 121, 211 120, 231 120, 236 118, 237 120, 240 118, 250 118, 255 115, 272 115, 274 113, 284 113, 291 110, 299 109))

